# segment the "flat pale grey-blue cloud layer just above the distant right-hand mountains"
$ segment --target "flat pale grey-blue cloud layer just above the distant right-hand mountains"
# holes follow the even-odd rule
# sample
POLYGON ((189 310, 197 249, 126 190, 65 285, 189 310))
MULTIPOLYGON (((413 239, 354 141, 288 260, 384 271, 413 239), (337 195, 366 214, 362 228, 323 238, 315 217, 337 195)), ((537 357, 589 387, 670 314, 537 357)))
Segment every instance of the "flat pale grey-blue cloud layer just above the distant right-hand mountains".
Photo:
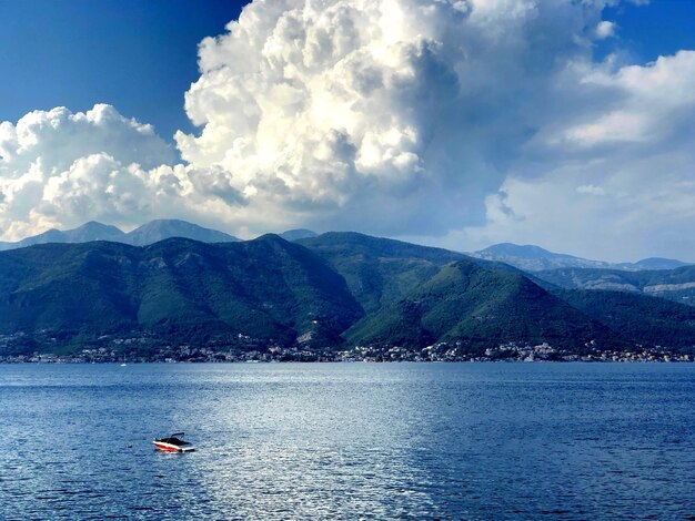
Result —
POLYGON ((551 249, 607 260, 659 255, 692 259, 695 181, 683 168, 693 157, 655 157, 604 175, 608 164, 565 167, 542 178, 507 178, 486 198, 486 223, 452 232, 444 243, 471 249, 513 238, 551 249), (664 171, 655 176, 655 168, 664 171), (601 178, 606 187, 576 183, 601 178))

